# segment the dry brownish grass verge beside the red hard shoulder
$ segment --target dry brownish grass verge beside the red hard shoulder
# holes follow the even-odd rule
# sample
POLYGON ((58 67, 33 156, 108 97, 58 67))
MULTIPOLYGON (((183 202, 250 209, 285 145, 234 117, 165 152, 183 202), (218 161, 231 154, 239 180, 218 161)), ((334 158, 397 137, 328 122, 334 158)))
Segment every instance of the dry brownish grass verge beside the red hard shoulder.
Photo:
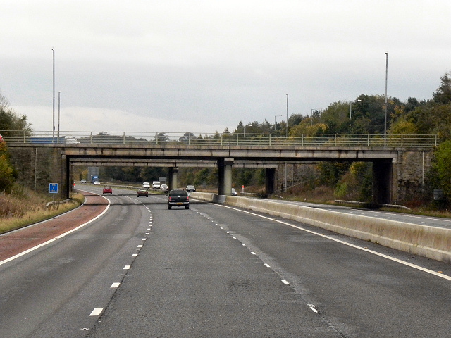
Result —
POLYGON ((0 233, 47 220, 80 206, 81 194, 73 196, 68 203, 46 206, 51 198, 31 190, 16 187, 12 194, 0 194, 0 233))

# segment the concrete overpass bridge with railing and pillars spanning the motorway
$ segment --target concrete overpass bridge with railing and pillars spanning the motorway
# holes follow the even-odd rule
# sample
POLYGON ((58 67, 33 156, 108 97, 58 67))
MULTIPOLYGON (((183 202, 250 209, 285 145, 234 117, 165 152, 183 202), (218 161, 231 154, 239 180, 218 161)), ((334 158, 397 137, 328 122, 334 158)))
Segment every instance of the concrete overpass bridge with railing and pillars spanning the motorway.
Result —
POLYGON ((406 183, 422 184, 425 168, 438 145, 436 135, 289 134, 285 137, 280 134, 63 132, 63 136, 54 136, 51 132, 29 135, 11 131, 1 131, 1 134, 13 154, 25 152, 32 159, 38 149, 52 151, 53 177, 61 182, 62 197, 69 194, 73 165, 164 166, 169 170, 170 187, 177 187, 180 167, 216 166, 218 194, 227 195, 231 191, 232 168, 265 168, 266 192, 271 194, 276 169, 282 163, 371 161, 373 201, 393 204, 400 198, 400 187, 406 183))

